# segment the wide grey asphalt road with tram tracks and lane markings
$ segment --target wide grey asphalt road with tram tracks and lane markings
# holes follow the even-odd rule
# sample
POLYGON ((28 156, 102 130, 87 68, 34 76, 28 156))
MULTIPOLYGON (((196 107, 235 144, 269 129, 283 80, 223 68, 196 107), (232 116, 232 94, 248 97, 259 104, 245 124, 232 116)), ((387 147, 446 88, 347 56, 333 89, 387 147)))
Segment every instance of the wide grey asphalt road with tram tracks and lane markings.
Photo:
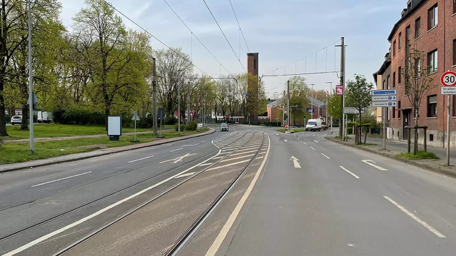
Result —
POLYGON ((181 256, 455 255, 456 179, 333 143, 328 132, 236 130, 1 175, 0 208, 13 207, 0 211, 0 255, 52 255, 176 186, 63 254, 166 255, 241 172, 181 256))

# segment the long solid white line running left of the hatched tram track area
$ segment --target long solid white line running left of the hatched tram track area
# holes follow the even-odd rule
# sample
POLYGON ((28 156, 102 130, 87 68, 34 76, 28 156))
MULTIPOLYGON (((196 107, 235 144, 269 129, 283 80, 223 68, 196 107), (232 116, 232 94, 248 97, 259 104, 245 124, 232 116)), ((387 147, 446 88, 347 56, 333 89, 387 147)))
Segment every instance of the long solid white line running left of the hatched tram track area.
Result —
MULTIPOLYGON (((214 157, 218 156, 219 154, 220 154, 220 151, 218 151, 218 154, 214 155, 213 157, 204 160, 204 161, 202 162, 202 164, 203 164, 203 163, 206 163, 207 161, 212 160, 214 157)), ((71 228, 73 228, 73 227, 75 227, 75 226, 77 226, 77 225, 79 225, 79 224, 81 224, 81 223, 83 223, 83 222, 85 222, 85 221, 87 221, 87 220, 90 220, 90 219, 92 219, 92 218, 94 218, 94 217, 96 217, 96 216, 98 216, 98 215, 104 213, 105 211, 110 210, 110 209, 116 207, 117 205, 120 205, 120 204, 122 204, 122 203, 124 203, 124 202, 126 202, 126 201, 129 201, 129 200, 131 200, 131 199, 133 199, 133 198, 135 198, 135 197, 137 197, 137 196, 139 196, 139 195, 142 195, 142 194, 144 194, 145 192, 149 191, 150 189, 153 189, 153 188, 155 188, 155 187, 157 187, 157 186, 160 186, 161 184, 163 184, 163 183, 165 183, 165 182, 167 182, 167 181, 169 181, 169 180, 171 180, 171 179, 174 179, 174 178, 176 178, 176 177, 179 176, 179 175, 182 175, 182 174, 184 174, 184 173, 187 173, 189 170, 191 170, 191 169, 197 167, 198 165, 199 165, 199 164, 195 164, 195 165, 193 165, 192 167, 190 167, 190 168, 188 168, 188 169, 186 169, 186 170, 183 170, 183 171, 181 171, 181 172, 178 173, 178 174, 175 174, 175 175, 173 175, 173 176, 171 176, 171 177, 169 177, 169 178, 167 178, 167 179, 164 179, 164 180, 160 181, 159 183, 156 183, 156 184, 154 184, 154 185, 152 185, 152 186, 150 186, 150 187, 148 187, 148 188, 145 188, 145 189, 143 189, 143 190, 141 190, 141 191, 139 191, 139 192, 137 192, 137 193, 135 193, 135 194, 133 194, 133 195, 130 195, 130 196, 128 196, 128 197, 125 197, 124 199, 122 199, 122 200, 120 200, 120 201, 117 201, 117 202, 115 202, 115 203, 112 204, 112 205, 108 205, 108 206, 104 207, 103 209, 98 210, 98 211, 94 212, 93 214, 88 215, 88 216, 86 216, 86 217, 84 217, 84 218, 82 218, 82 219, 80 219, 80 220, 78 220, 78 221, 75 221, 75 222, 73 222, 73 223, 71 223, 71 224, 69 224, 69 225, 66 225, 66 226, 64 226, 64 227, 62 227, 62 228, 60 228, 60 229, 58 229, 58 230, 55 230, 55 231, 53 231, 53 232, 51 232, 51 233, 49 233, 49 234, 47 234, 47 235, 41 236, 41 237, 39 237, 39 238, 37 238, 37 239, 31 241, 31 242, 28 242, 28 243, 26 243, 25 245, 23 245, 23 246, 21 246, 21 247, 15 249, 15 250, 13 250, 13 251, 7 252, 7 253, 5 253, 5 254, 2 255, 2 256, 13 256, 13 255, 16 255, 16 254, 20 253, 21 251, 24 251, 24 250, 30 248, 31 246, 34 246, 34 245, 36 245, 36 244, 38 244, 38 243, 41 243, 42 241, 45 241, 45 240, 47 240, 47 239, 49 239, 49 238, 51 238, 51 237, 53 237, 53 236, 56 236, 56 235, 58 235, 58 234, 60 234, 60 233, 62 233, 62 232, 64 232, 64 231, 66 231, 66 230, 69 230, 69 229, 71 229, 71 228)))

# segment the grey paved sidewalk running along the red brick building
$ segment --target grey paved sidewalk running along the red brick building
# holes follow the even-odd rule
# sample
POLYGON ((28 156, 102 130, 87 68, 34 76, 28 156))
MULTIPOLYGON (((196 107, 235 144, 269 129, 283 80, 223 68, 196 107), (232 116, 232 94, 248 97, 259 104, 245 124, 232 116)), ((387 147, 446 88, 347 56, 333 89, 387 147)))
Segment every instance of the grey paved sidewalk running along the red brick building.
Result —
MULTIPOLYGON (((354 135, 348 135, 348 137, 352 138, 353 142, 355 141, 354 135)), ((364 142, 364 134, 362 140, 364 142)), ((374 143, 377 144, 379 147, 383 148, 383 138, 367 138, 366 143, 374 143)), ((386 140, 386 149, 393 150, 393 151, 402 151, 407 152, 407 143, 403 141, 397 141, 392 139, 386 140)), ((418 150, 422 150, 423 145, 418 145, 418 150)), ((410 144, 410 151, 413 152, 413 139, 412 143, 410 144)), ((444 148, 434 148, 427 146, 427 151, 434 152, 436 155, 440 157, 440 159, 446 159, 446 149, 444 148)), ((450 150, 450 163, 456 165, 456 151, 450 150)))

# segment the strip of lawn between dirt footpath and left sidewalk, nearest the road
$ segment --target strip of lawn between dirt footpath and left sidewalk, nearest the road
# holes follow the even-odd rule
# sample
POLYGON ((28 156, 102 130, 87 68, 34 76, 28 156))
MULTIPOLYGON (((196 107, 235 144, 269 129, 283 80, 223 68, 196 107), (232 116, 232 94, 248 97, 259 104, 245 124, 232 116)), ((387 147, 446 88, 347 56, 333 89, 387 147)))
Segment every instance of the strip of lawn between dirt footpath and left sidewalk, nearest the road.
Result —
MULTIPOLYGON (((93 132, 95 131, 97 130, 94 128, 93 132)), ((203 132, 203 130, 181 131, 181 136, 200 132, 203 132)), ((176 131, 167 131, 161 134, 159 132, 159 135, 163 135, 165 138, 178 137, 176 131)), ((46 159, 61 155, 87 152, 98 148, 110 148, 130 144, 138 144, 130 142, 130 140, 133 138, 133 135, 125 135, 121 136, 119 141, 110 141, 109 137, 106 136, 100 138, 77 138, 60 141, 37 142, 35 143, 35 154, 29 153, 29 143, 5 143, 2 145, 2 147, 0 147, 0 164, 11 164, 36 159, 46 159), (62 151, 61 149, 64 150, 62 151)), ((156 140, 157 138, 155 138, 152 133, 142 133, 136 134, 136 139, 139 139, 140 143, 143 143, 156 140)))

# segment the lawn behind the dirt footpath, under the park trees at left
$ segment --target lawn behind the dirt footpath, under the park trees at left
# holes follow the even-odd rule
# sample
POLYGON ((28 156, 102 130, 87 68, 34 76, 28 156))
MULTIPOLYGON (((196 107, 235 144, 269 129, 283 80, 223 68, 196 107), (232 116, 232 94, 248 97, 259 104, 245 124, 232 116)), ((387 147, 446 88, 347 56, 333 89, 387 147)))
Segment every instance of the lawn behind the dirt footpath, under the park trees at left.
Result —
MULTIPOLYGON (((21 139, 29 138, 30 131, 19 130, 21 126, 11 125, 6 126, 6 130, 10 135, 10 138, 6 139, 21 139)), ((174 129, 174 125, 164 125, 163 128, 174 129)), ((152 131, 152 128, 136 128, 136 132, 152 131)), ((159 128, 160 130, 160 128, 159 128)), ((134 128, 122 128, 122 133, 132 133, 134 128)), ((33 136, 39 137, 64 137, 64 136, 78 136, 78 135, 96 135, 106 134, 104 125, 76 125, 76 124, 57 124, 57 123, 45 123, 33 126, 33 136)))

